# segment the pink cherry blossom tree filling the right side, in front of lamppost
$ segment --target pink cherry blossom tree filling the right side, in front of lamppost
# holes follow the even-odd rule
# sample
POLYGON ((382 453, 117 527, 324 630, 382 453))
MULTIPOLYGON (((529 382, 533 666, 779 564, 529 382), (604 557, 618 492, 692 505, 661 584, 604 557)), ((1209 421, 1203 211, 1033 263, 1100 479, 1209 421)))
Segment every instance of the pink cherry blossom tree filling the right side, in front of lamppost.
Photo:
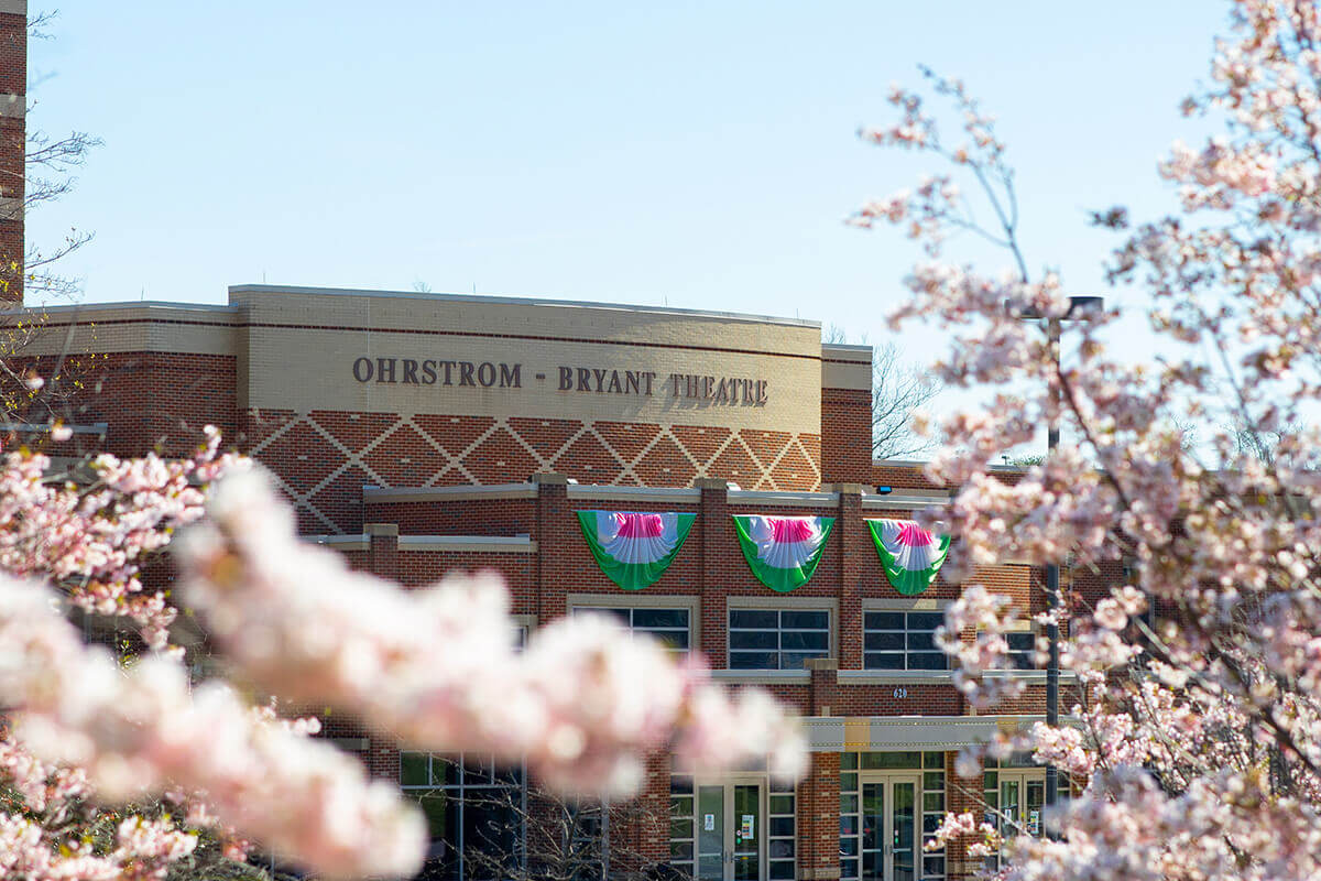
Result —
MULTIPOLYGON (((1178 213, 1136 227, 1119 207, 1095 215, 1125 236, 1110 280, 1149 299, 1151 329, 1164 341, 1151 363, 1107 354, 1114 313, 1070 329, 1078 354, 1063 362, 1058 334, 1018 318, 1065 318, 1066 283, 1024 258, 995 119, 962 82, 926 75, 952 127, 923 92, 894 88, 898 120, 861 135, 926 153, 941 173, 868 202, 852 221, 896 225, 922 246, 906 279, 911 296, 892 322, 945 329, 942 380, 985 390, 983 411, 931 427, 947 444, 930 477, 956 487, 931 516, 958 536, 966 567, 1067 559, 1107 571, 1122 561, 1131 573, 1063 613, 1061 663, 1085 695, 1071 720, 959 762, 974 775, 979 756, 1029 748, 1069 773, 1079 791, 1046 818, 1055 835, 1000 841, 963 814, 947 818, 937 841, 971 844, 974 856, 1000 847, 1005 878, 1317 877, 1321 436, 1309 425, 1321 395, 1318 9, 1235 0, 1210 85, 1182 106, 1219 131, 1199 147, 1176 143, 1157 169, 1178 213), (955 262, 952 232, 1004 248, 1008 269, 955 262), (1048 423, 1070 444, 1013 486, 995 479, 995 460, 1048 423), (1189 424, 1218 468, 1185 449, 1189 424), (1244 442, 1242 431, 1267 440, 1244 442), (1254 452, 1264 445, 1271 456, 1254 452)), ((1024 614, 978 585, 948 609, 942 641, 975 704, 1012 696, 982 674, 1005 666, 1003 634, 1024 614), (974 630, 975 639, 959 637, 974 630)))

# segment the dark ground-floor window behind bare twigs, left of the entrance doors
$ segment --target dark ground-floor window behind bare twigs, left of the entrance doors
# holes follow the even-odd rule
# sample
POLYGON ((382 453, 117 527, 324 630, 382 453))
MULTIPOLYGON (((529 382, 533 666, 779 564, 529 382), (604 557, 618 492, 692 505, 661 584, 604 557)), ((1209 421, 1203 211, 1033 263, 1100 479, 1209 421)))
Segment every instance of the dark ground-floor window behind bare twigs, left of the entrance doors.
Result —
POLYGON ((431 848, 419 878, 489 881, 519 870, 527 790, 522 769, 472 753, 399 754, 399 785, 427 818, 431 848))

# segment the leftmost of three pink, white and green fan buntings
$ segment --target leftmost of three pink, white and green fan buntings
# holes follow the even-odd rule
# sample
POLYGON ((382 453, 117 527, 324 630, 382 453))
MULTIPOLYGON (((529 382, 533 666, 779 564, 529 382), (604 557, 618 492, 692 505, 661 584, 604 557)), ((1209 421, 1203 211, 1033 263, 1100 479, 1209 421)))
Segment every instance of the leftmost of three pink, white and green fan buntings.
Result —
POLYGON ((601 572, 625 590, 641 590, 664 575, 696 516, 674 511, 579 511, 577 515, 601 572))

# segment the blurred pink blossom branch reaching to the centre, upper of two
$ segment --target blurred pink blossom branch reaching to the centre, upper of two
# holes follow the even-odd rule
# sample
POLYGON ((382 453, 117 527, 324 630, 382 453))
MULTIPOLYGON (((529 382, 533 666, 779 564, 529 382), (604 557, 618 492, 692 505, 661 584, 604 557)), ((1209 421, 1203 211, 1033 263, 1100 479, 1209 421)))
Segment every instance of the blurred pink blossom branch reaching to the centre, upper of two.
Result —
POLYGON ((354 572, 299 542, 256 469, 217 485, 180 556, 184 594, 242 676, 419 748, 522 759, 546 786, 594 793, 635 790, 666 744, 703 767, 770 756, 777 773, 803 770, 802 736, 765 693, 731 696, 699 662, 597 617, 551 622, 517 651, 498 577, 404 592, 354 572))

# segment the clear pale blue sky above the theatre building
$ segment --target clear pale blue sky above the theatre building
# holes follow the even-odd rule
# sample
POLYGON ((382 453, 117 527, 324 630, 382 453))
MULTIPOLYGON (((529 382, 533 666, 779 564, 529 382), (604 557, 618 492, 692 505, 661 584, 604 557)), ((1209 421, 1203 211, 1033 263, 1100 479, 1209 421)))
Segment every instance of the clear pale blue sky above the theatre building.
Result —
POLYGON ((1111 238, 1086 210, 1166 205, 1155 162, 1226 11, 67 0, 32 45, 29 124, 104 147, 29 236, 95 232, 67 264, 87 301, 424 281, 876 342, 914 252, 843 218, 931 168, 857 140, 892 118, 889 83, 919 62, 967 79, 1020 169, 1029 263, 1094 292, 1111 238))

